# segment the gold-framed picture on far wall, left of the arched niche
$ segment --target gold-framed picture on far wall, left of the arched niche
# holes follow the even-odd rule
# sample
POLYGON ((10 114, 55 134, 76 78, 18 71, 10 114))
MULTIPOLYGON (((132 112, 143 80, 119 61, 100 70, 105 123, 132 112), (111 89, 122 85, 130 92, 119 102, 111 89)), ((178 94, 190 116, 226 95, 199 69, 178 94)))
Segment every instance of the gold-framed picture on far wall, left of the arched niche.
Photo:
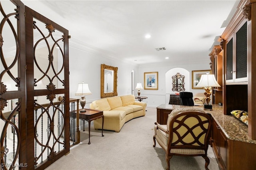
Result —
POLYGON ((144 89, 158 90, 158 72, 144 73, 144 89))

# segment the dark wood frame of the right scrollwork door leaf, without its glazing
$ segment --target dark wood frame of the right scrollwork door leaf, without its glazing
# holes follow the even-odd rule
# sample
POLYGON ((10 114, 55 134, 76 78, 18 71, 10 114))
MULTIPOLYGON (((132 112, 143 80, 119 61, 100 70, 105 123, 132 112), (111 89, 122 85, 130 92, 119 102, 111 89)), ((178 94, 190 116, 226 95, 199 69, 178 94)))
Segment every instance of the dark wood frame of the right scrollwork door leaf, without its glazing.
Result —
MULTIPOLYGON (((25 6, 26 11, 26 81, 27 81, 27 145, 28 145, 28 166, 33 167, 37 164, 36 157, 34 157, 34 146, 35 146, 35 139, 36 136, 35 128, 34 127, 34 97, 35 96, 49 96, 49 102, 55 98, 57 94, 64 94, 64 141, 66 141, 63 150, 56 153, 54 148, 51 148, 52 151, 50 152, 49 158, 41 163, 39 166, 37 164, 36 169, 44 169, 56 160, 58 160, 63 155, 67 154, 70 151, 70 144, 69 144, 69 66, 68 66, 68 30, 59 26, 55 22, 52 22, 48 18, 38 14, 34 10, 25 6), (34 40, 33 40, 33 28, 36 24, 34 24, 33 19, 36 18, 37 20, 45 23, 46 29, 49 30, 49 33, 52 34, 55 30, 58 30, 63 33, 63 42, 64 42, 64 88, 63 89, 52 89, 48 87, 47 89, 42 90, 34 90, 34 40)), ((52 54, 49 54, 52 55, 52 54)), ((56 57, 57 58, 57 57, 56 57)), ((53 59, 53 58, 52 58, 53 59)), ((51 59, 49 59, 49 62, 51 59)), ((50 84, 49 84, 50 85, 50 84)), ((53 123, 53 122, 51 122, 53 123)), ((50 126, 50 125, 49 125, 50 126)), ((56 127, 56 125, 55 125, 56 127)), ((53 129, 51 130, 54 133, 53 129)), ((30 168, 29 168, 30 169, 30 168)))

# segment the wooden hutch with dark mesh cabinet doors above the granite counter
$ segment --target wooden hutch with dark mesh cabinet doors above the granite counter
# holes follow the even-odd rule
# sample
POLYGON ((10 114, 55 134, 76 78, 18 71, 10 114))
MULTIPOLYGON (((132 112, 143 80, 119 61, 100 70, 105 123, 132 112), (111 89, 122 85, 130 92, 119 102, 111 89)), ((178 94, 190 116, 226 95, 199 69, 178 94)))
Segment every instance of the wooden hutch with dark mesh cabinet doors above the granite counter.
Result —
POLYGON ((248 111, 248 136, 256 140, 256 0, 241 0, 224 30, 223 109, 248 111), (232 66, 230 66, 232 63, 232 66), (232 71, 232 73, 231 73, 232 71), (231 75, 229 75, 231 73, 231 75))

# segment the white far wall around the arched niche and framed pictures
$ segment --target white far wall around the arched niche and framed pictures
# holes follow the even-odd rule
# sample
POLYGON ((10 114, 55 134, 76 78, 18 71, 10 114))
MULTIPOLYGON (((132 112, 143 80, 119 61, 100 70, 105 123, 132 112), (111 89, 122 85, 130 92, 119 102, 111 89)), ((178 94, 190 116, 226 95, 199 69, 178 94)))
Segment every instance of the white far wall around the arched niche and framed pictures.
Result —
POLYGON ((170 69, 174 69, 176 73, 180 72, 181 74, 183 74, 183 71, 184 71, 184 75, 186 76, 184 79, 186 84, 186 87, 185 87, 186 91, 190 91, 194 94, 204 92, 204 89, 192 89, 191 77, 192 77, 192 71, 194 70, 210 69, 208 58, 206 58, 205 61, 200 61, 200 62, 195 61, 193 63, 191 62, 186 63, 186 61, 184 61, 182 63, 172 63, 172 64, 165 64, 165 65, 140 65, 139 76, 138 76, 140 82, 144 82, 145 72, 158 71, 158 90, 145 90, 145 89, 140 90, 141 91, 140 96, 148 97, 148 99, 144 100, 144 102, 147 103, 148 107, 158 107, 161 104, 169 103, 169 98, 166 96, 170 94, 170 89, 169 87, 166 88, 166 83, 167 83, 166 79, 171 79, 170 73, 168 72, 170 69), (177 69, 174 69, 174 68, 177 68, 177 69), (187 73, 189 73, 189 75, 187 73), (189 84, 189 87, 187 86, 187 84, 189 84))

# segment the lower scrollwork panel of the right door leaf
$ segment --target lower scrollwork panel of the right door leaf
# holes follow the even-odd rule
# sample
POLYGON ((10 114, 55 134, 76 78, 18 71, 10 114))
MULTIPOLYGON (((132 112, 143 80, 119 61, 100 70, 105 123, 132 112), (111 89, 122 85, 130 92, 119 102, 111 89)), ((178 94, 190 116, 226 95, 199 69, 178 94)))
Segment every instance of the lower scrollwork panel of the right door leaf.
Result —
MULTIPOLYGON (((46 96, 41 96, 46 97, 46 96)), ((64 99, 40 105, 35 100, 35 164, 52 160, 64 148, 64 99)))

